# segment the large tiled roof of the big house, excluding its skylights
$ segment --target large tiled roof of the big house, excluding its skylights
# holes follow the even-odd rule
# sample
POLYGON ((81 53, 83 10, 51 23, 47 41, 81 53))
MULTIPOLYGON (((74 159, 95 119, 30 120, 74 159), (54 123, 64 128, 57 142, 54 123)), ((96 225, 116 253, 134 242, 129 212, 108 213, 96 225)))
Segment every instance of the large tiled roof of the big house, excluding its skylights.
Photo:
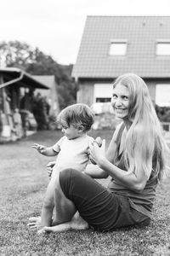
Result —
POLYGON ((156 56, 161 39, 170 41, 170 16, 88 16, 72 76, 114 79, 137 73, 170 78, 170 56, 156 56), (127 55, 109 55, 114 39, 127 40, 127 55))

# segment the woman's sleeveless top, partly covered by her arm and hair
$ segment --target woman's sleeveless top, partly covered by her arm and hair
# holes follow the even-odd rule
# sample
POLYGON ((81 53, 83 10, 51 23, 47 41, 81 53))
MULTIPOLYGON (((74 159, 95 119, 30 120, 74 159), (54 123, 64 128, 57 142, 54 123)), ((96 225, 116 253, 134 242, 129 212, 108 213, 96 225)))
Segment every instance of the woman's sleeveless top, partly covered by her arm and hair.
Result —
MULTIPOLYGON (((122 124, 116 137, 117 154, 114 161, 115 166, 119 167, 122 170, 126 170, 125 161, 123 158, 123 153, 119 154, 118 152, 124 128, 125 125, 122 124)), ((155 163, 154 161, 152 161, 152 169, 154 169, 154 166, 155 163)), ((154 172, 152 172, 149 180, 145 185, 144 190, 140 193, 135 193, 133 190, 123 187, 122 185, 116 183, 116 181, 113 178, 111 179, 111 182, 108 184, 108 189, 110 189, 111 192, 114 192, 117 195, 127 196, 129 199, 130 206, 133 207, 133 209, 151 218, 151 209, 153 206, 153 202, 156 199, 156 185, 157 177, 155 177, 154 172)))

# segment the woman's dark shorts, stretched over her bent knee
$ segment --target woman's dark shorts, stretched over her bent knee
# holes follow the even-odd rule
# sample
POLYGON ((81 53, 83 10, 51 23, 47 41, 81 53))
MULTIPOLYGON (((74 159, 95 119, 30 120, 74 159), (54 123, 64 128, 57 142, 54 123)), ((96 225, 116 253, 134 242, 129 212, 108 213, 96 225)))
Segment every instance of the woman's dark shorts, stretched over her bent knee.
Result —
POLYGON ((126 196, 112 193, 82 172, 66 169, 59 173, 59 183, 66 198, 94 230, 150 224, 150 218, 130 207, 126 196))

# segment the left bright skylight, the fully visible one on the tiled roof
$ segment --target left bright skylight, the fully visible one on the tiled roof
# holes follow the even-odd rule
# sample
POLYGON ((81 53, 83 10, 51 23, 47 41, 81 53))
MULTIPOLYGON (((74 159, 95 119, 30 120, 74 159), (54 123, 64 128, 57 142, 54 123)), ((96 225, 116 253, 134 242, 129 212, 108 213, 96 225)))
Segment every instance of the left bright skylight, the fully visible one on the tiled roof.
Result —
POLYGON ((111 42, 109 55, 126 55, 127 43, 126 42, 111 42))

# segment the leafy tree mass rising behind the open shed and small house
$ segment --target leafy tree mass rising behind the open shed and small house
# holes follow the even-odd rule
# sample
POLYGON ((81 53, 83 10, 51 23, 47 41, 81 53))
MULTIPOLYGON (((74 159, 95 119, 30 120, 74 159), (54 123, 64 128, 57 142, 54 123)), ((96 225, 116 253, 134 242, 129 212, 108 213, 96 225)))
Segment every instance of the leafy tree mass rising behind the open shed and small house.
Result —
POLYGON ((72 65, 60 65, 38 48, 19 41, 0 42, 0 67, 19 67, 32 75, 54 75, 59 107, 62 109, 76 102, 77 86, 71 79, 72 65))

